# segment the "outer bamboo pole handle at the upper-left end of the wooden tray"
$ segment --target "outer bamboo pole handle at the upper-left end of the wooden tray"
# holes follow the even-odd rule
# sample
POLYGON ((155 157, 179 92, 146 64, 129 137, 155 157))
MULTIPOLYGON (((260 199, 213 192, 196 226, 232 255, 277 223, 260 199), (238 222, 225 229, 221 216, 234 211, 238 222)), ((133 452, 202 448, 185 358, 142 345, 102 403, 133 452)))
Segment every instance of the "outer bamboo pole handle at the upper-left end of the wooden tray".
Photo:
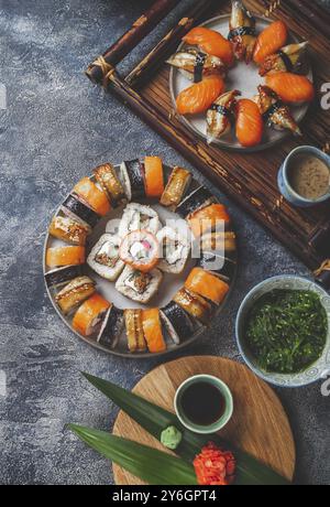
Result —
POLYGON ((156 0, 114 44, 92 62, 86 75, 92 83, 101 84, 127 54, 130 53, 180 0, 156 0))

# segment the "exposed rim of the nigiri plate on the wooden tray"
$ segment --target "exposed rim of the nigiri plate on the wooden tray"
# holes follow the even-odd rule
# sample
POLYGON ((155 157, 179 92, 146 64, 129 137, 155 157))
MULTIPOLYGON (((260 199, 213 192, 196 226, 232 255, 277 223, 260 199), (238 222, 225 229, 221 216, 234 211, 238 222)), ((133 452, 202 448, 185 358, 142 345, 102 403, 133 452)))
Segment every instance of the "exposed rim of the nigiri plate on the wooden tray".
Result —
MULTIPOLYGON (((262 21, 264 23, 268 23, 271 24, 274 20, 271 20, 268 18, 265 18, 265 17, 262 17, 262 15, 254 15, 254 18, 258 21, 262 21)), ((228 19, 230 20, 230 14, 220 14, 220 15, 216 15, 213 18, 210 18, 208 20, 206 20, 204 23, 199 24, 198 26, 206 26, 208 24, 211 24, 211 23, 215 23, 219 20, 224 20, 224 19, 228 19)), ((299 37, 298 35, 296 35, 295 33, 293 33, 290 31, 290 37, 293 39, 294 43, 298 43, 299 40, 301 37, 299 37)), ((185 42, 180 42, 180 44, 177 46, 176 48, 176 52, 182 50, 183 47, 185 47, 185 42)), ((172 105, 173 105, 173 108, 174 108, 174 111, 175 111, 175 115, 176 117, 178 118, 178 120, 185 126, 187 127, 190 132, 193 132, 194 134, 198 136, 199 139, 202 139, 204 141, 207 140, 207 137, 205 133, 202 133, 200 130, 198 130, 197 127, 194 126, 194 123, 191 121, 189 121, 189 119, 187 119, 184 115, 179 115, 177 111, 176 111, 176 97, 175 97, 175 93, 174 93, 174 83, 175 83, 175 75, 177 75, 179 73, 179 71, 177 68, 174 68, 173 66, 170 66, 170 69, 169 69, 169 78, 168 78, 168 84, 169 84, 169 95, 170 95, 170 100, 172 100, 172 105)), ((311 65, 310 65, 310 61, 308 62, 308 78, 314 83, 314 74, 312 74, 312 68, 311 68, 311 65)), ((262 77, 261 77, 262 79, 262 77)), ((301 107, 301 117, 299 118, 298 120, 298 123, 302 122, 304 119, 306 118, 308 111, 309 111, 309 107, 310 107, 310 104, 304 104, 300 106, 301 107)), ((210 144, 210 147, 218 147, 218 148, 223 148, 228 151, 233 151, 233 152, 243 152, 243 153, 255 153, 255 152, 258 152, 258 151, 264 151, 264 150, 267 150, 270 148, 273 148, 273 147, 276 147, 277 144, 279 144, 280 142, 283 142, 285 139, 287 139, 289 136, 292 136, 292 133, 289 131, 280 131, 282 132, 282 136, 278 137, 278 139, 273 139, 273 140, 268 140, 266 142, 262 142, 261 144, 257 144, 255 147, 242 147, 240 144, 232 144, 228 141, 223 141, 222 139, 216 139, 215 141, 212 141, 212 143, 210 144)))

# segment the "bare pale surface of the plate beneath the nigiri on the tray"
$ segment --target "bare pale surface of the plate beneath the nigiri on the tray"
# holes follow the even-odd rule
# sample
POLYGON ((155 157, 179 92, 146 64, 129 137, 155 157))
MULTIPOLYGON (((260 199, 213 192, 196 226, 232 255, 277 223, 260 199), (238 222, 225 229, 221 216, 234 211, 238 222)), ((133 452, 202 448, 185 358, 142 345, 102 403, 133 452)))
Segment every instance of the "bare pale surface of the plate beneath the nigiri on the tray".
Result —
MULTIPOLYGON (((272 23, 272 21, 266 18, 262 18, 262 17, 254 17, 254 18, 256 21, 256 34, 261 33, 263 30, 268 28, 272 23)), ((230 22, 230 15, 224 14, 224 15, 212 18, 206 21, 205 23, 202 23, 200 26, 219 32, 221 35, 223 35, 227 39, 228 33, 229 33, 229 22, 230 22)), ((193 54, 196 55, 196 52, 199 53, 200 47, 197 45, 197 42, 195 44, 196 45, 193 45, 191 43, 188 44, 188 43, 183 42, 178 46, 177 53, 179 52, 186 53, 187 50, 189 52, 193 48, 193 54)), ((312 72, 311 72, 308 58, 306 57, 306 51, 304 51, 306 43, 305 44, 301 43, 301 41, 298 41, 298 39, 293 33, 288 33, 286 45, 287 45, 286 47, 293 47, 292 51, 296 51, 297 53, 300 54, 301 65, 299 68, 299 73, 301 75, 304 74, 312 83, 312 72), (299 43, 299 46, 296 45, 298 43, 299 43), (290 44, 295 44, 296 46, 290 46, 290 44), (301 58, 301 56, 304 57, 301 58)), ((297 53, 295 53, 293 56, 290 55, 292 58, 295 58, 297 53)), ((202 52, 201 52, 201 55, 202 55, 202 52)), ((173 57, 175 55, 173 55, 173 57)), ((193 58, 191 55, 189 56, 189 58, 193 58)), ((288 62, 289 56, 285 55, 284 58, 286 62, 288 62)), ((258 141, 257 144, 255 145, 248 147, 248 145, 242 145, 239 142, 235 136, 235 129, 232 126, 232 128, 229 128, 226 131, 226 133, 222 134, 221 137, 219 138, 212 137, 212 139, 210 139, 210 136, 208 136, 207 112, 197 114, 197 115, 187 114, 185 116, 179 115, 177 112, 177 106, 176 106, 177 97, 183 90, 191 86, 194 84, 193 82, 196 79, 195 78, 196 74, 191 75, 190 73, 190 76, 189 76, 189 73, 179 68, 179 66, 183 65, 183 61, 186 61, 185 56, 183 57, 180 56, 179 58, 177 58, 175 62, 175 65, 170 66, 169 90, 170 90, 173 107, 174 107, 174 110, 176 110, 177 117, 180 119, 180 121, 186 127, 193 130, 197 136, 201 137, 205 140, 208 140, 209 143, 221 147, 221 148, 235 150, 235 151, 243 151, 243 152, 253 152, 253 151, 261 151, 261 150, 271 148, 274 144, 280 142, 287 136, 293 134, 293 131, 288 130, 287 128, 283 129, 280 127, 274 128, 274 127, 265 126, 263 129, 261 141, 258 141)), ((194 73, 196 73, 196 68, 198 68, 200 60, 197 60, 196 62, 193 63, 194 69, 195 69, 194 73)), ((187 61, 185 63, 187 63, 187 61)), ((289 62, 287 63, 287 65, 289 65, 289 62)), ((202 74, 198 76, 198 79, 201 79, 201 78, 202 78, 202 74)), ((222 90, 221 94, 231 91, 231 90, 239 90, 240 96, 235 97, 237 100, 244 98, 244 99, 250 99, 250 100, 255 101, 257 100, 257 96, 258 96, 258 86, 266 85, 267 78, 270 78, 270 75, 265 75, 264 77, 262 77, 258 74, 258 67, 253 61, 249 65, 246 65, 245 62, 235 61, 235 63, 228 69, 227 76, 223 77, 224 84, 226 84, 226 90, 222 90)), ((213 103, 213 105, 211 106, 211 108, 213 108, 213 111, 216 109, 216 106, 217 106, 217 103, 216 104, 213 103)), ((223 108, 220 110, 219 105, 217 107, 220 112, 223 111, 223 108)), ((292 130, 295 130, 296 127, 299 126, 301 120, 305 118, 308 111, 308 108, 309 108, 308 103, 304 103, 304 104, 299 103, 296 105, 290 104, 290 106, 288 107, 288 112, 289 112, 290 118, 294 120, 294 123, 290 126, 292 130)), ((213 114, 216 115, 216 111, 213 114)))

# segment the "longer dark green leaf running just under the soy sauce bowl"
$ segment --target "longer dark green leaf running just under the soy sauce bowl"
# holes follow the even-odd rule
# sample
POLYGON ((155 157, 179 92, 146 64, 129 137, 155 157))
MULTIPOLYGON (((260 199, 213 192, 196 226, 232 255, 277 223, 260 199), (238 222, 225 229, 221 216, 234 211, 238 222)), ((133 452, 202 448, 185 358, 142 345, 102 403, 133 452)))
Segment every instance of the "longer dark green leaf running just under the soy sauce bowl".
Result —
POLYGON ((237 449, 219 435, 199 435, 187 430, 177 417, 161 407, 134 395, 112 382, 82 374, 87 380, 106 395, 121 410, 136 421, 151 435, 161 440, 161 433, 168 425, 175 425, 182 433, 183 440, 176 453, 191 463, 200 449, 209 441, 222 449, 233 451, 237 459, 237 485, 289 485, 290 483, 278 473, 260 462, 249 453, 237 449))

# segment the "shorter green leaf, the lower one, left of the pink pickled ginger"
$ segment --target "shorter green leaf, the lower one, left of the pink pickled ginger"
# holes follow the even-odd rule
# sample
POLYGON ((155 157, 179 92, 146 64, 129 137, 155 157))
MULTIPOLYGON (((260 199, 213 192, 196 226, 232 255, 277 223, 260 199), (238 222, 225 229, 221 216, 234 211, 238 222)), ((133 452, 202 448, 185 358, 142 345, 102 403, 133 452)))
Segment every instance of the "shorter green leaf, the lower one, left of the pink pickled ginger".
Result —
POLYGON ((68 424, 68 428, 98 453, 156 486, 197 485, 194 466, 179 457, 105 431, 68 424))

